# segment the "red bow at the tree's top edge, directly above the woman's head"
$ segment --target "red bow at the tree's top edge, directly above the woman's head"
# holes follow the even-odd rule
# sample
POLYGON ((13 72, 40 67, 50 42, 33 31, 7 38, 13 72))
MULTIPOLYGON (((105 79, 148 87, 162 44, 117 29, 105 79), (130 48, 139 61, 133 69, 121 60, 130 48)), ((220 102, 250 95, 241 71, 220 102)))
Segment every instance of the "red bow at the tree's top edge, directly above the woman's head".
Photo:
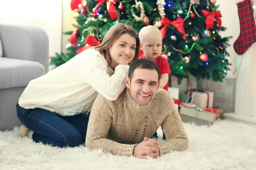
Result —
MULTIPOLYGON (((99 8, 99 6, 101 6, 105 2, 105 0, 96 0, 96 1, 99 3, 97 3, 97 5, 93 8, 94 15, 97 15, 96 9, 99 8)), ((116 7, 114 5, 115 3, 116 3, 116 0, 107 0, 107 10, 111 20, 118 17, 116 7)))

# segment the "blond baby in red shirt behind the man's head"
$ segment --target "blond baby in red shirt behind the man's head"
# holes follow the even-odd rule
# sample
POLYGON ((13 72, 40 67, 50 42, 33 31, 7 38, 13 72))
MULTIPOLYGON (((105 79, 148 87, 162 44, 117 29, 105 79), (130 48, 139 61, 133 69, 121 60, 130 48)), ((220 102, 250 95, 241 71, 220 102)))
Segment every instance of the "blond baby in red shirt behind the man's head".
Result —
MULTIPOLYGON (((169 63, 167 59, 161 56, 162 52, 162 34, 157 27, 145 26, 140 30, 140 49, 143 50, 144 55, 139 59, 149 59, 155 62, 160 70, 160 88, 168 91, 168 79, 171 73, 169 63)), ((157 132, 152 136, 157 138, 157 132)), ((166 136, 163 133, 163 139, 166 140, 166 136)))

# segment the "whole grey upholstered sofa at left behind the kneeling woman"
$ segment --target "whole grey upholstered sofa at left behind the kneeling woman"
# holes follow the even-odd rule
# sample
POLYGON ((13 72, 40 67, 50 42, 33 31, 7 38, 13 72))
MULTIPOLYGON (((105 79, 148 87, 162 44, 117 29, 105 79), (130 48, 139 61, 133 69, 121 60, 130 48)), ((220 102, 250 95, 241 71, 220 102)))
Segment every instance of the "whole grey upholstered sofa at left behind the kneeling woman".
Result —
POLYGON ((0 23, 0 130, 19 126, 16 104, 30 80, 49 69, 49 40, 45 31, 28 24, 0 23))

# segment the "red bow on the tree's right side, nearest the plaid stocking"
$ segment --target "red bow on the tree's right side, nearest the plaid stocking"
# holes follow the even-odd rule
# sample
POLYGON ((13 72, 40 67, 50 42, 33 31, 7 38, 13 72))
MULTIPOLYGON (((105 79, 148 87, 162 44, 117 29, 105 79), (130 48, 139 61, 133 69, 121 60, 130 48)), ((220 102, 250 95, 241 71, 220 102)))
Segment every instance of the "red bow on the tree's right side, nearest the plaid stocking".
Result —
POLYGON ((219 25, 219 31, 221 30, 221 12, 220 11, 215 11, 215 12, 209 12, 207 10, 201 10, 204 16, 206 17, 205 20, 205 25, 206 28, 212 29, 213 28, 213 23, 214 19, 216 20, 216 23, 219 25))

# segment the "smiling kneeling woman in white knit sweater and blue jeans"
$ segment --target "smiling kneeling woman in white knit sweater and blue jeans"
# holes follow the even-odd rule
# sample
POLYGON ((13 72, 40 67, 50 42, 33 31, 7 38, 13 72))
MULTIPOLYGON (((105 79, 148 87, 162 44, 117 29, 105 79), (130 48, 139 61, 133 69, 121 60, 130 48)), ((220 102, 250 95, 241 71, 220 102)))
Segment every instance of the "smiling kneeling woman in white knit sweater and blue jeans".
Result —
POLYGON ((42 77, 32 80, 17 104, 20 135, 35 142, 75 147, 85 141, 88 113, 98 94, 116 100, 125 88, 128 63, 138 59, 139 37, 118 23, 102 44, 87 49, 42 77))

